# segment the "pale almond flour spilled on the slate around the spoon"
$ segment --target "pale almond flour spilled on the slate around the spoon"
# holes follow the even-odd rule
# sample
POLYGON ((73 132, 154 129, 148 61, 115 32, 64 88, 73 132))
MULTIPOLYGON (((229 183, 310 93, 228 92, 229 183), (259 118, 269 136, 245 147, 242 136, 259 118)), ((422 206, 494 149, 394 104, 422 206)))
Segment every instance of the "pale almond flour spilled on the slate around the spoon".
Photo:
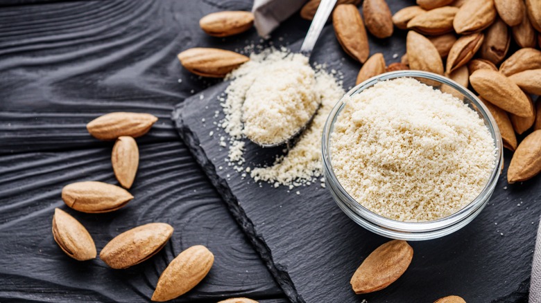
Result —
MULTIPOLYGON (((218 126, 229 135, 227 143, 225 139, 221 139, 220 145, 228 148, 226 160, 229 165, 239 173, 246 172, 259 185, 264 181, 273 187, 287 185, 291 190, 293 187, 317 183, 322 175, 320 154, 323 126, 332 107, 345 93, 341 80, 336 80, 333 75, 343 77, 336 71, 334 74, 327 73, 323 65, 312 68, 307 57, 291 53, 286 48, 266 48, 261 53, 252 53, 249 62, 225 77, 225 80, 232 81, 225 93, 218 96, 225 115, 218 126), (289 66, 291 73, 283 73, 281 66, 289 66), (305 104, 313 106, 314 102, 320 102, 321 105, 311 124, 285 156, 277 156, 270 166, 258 167, 255 163, 255 167, 243 167, 247 132, 243 123, 243 104, 247 96, 251 96, 253 100, 264 98, 269 93, 265 91, 268 88, 253 84, 258 79, 273 81, 273 75, 279 77, 275 81, 284 83, 285 89, 280 92, 280 98, 298 98, 298 91, 291 89, 292 86, 286 83, 302 82, 309 84, 311 88, 310 91, 304 90, 300 93, 302 98, 306 98, 305 104)), ((323 179, 320 184, 325 187, 323 179)))

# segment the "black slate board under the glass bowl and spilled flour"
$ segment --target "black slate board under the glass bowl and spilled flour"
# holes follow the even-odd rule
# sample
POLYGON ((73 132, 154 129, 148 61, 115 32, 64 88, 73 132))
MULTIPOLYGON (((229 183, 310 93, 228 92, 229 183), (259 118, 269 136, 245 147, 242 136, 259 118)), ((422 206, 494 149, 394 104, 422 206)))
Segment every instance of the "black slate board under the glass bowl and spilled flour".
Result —
MULTIPOLYGON (((391 10, 406 4, 392 2, 391 10)), ((371 53, 377 52, 384 53, 387 63, 400 61, 404 33, 384 42, 371 41, 371 53)), ((343 57, 327 26, 312 59, 342 71, 347 88, 354 84, 359 65, 343 57)), ((411 243, 412 264, 397 282, 376 293, 354 295, 349 284, 354 270, 388 239, 353 223, 318 183, 288 192, 286 187, 275 189, 266 183, 260 187, 228 167, 227 149, 218 145, 218 138, 227 135, 213 125, 223 117, 214 118, 214 112, 221 112, 216 97, 226 86, 221 83, 201 92, 202 97, 188 98, 173 111, 173 120, 291 301, 433 302, 452 294, 467 302, 526 301, 541 213, 540 176, 507 185, 505 169, 490 203, 472 223, 441 239, 411 243), (209 136, 210 131, 214 136, 209 136)), ((250 144, 248 150, 245 158, 250 167, 268 162, 273 158, 270 153, 276 152, 250 144)), ((504 156, 507 167, 511 155, 504 156)))

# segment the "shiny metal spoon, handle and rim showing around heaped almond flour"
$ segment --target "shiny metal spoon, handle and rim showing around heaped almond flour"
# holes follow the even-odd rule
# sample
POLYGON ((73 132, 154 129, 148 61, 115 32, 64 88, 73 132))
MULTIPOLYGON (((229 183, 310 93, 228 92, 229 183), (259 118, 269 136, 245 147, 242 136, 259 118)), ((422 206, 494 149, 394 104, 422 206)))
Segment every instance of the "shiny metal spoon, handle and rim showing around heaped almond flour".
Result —
MULTIPOLYGON (((310 28, 308 29, 308 33, 306 34, 306 37, 304 37, 302 46, 300 46, 300 53, 302 55, 310 57, 312 50, 314 50, 314 46, 318 41, 321 30, 323 30, 323 26, 325 26, 325 23, 327 23, 327 19, 329 19, 329 15, 331 15, 336 1, 337 0, 322 0, 320 2, 318 10, 316 11, 316 15, 314 15, 314 19, 312 20, 310 28)), ((318 109, 319 106, 316 108, 316 110, 314 110, 314 113, 311 114, 311 118, 309 118, 309 120, 307 120, 306 123, 304 123, 304 125, 298 129, 298 131, 295 131, 295 134, 293 134, 290 138, 286 138, 282 142, 264 144, 256 142, 255 140, 252 140, 252 138, 248 139, 261 147, 277 147, 279 145, 283 145, 284 143, 289 143, 291 139, 302 133, 302 131, 306 129, 307 125, 309 125, 310 122, 314 120, 314 116, 316 116, 316 112, 318 111, 318 109)))

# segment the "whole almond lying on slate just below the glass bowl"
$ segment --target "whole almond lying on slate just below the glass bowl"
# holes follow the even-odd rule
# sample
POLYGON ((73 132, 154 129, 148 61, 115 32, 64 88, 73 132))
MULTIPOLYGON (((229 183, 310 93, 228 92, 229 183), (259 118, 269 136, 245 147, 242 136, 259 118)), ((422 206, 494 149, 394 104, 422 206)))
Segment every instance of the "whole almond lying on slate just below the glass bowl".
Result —
POLYGON ((376 248, 351 278, 353 291, 372 293, 395 282, 408 269, 413 258, 413 248, 406 241, 388 241, 376 248))

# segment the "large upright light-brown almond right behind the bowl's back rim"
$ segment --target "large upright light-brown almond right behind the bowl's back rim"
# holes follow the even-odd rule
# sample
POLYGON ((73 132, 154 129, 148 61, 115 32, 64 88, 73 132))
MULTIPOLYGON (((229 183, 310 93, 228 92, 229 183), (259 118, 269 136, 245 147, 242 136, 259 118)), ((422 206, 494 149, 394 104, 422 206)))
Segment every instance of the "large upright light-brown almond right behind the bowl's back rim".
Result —
POLYGON ((406 37, 409 68, 443 75, 443 62, 436 46, 427 37, 410 30, 406 37))

